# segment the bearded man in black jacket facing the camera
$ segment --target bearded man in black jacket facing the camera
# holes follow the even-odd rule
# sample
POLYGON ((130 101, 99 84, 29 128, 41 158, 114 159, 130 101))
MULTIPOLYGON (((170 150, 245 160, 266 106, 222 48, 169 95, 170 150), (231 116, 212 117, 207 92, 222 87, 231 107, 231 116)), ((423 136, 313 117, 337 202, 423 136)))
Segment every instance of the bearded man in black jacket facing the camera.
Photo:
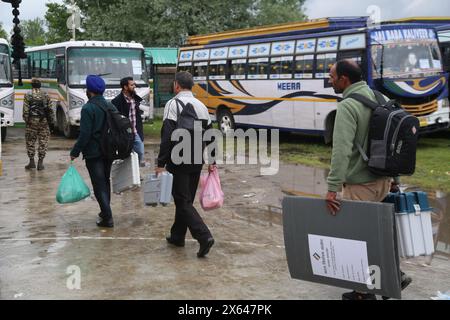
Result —
POLYGON ((122 92, 111 102, 122 115, 130 119, 131 129, 135 136, 133 150, 139 156, 141 167, 145 167, 143 111, 139 108, 142 98, 136 94, 136 82, 134 82, 132 77, 120 80, 120 86, 122 87, 122 92))

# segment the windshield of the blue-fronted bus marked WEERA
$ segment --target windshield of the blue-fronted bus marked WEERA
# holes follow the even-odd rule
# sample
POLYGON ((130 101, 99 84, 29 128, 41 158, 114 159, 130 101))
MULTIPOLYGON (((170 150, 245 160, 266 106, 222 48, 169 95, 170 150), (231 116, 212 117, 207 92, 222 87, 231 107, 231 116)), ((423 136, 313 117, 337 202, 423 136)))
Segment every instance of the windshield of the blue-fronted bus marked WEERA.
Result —
MULTIPOLYGON (((381 77, 381 45, 372 47, 373 77, 381 77)), ((384 45, 383 77, 412 78, 436 75, 443 71, 442 57, 436 40, 399 41, 384 45)))

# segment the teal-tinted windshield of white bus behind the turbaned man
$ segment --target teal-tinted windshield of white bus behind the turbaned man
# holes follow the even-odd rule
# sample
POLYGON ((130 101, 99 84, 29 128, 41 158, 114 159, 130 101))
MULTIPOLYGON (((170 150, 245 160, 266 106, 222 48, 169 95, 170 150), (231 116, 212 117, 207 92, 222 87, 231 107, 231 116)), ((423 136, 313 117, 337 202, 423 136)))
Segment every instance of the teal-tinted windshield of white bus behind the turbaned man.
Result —
POLYGON ((137 85, 148 85, 144 53, 125 48, 72 48, 68 52, 69 85, 84 86, 90 74, 102 76, 107 85, 133 77, 137 85))

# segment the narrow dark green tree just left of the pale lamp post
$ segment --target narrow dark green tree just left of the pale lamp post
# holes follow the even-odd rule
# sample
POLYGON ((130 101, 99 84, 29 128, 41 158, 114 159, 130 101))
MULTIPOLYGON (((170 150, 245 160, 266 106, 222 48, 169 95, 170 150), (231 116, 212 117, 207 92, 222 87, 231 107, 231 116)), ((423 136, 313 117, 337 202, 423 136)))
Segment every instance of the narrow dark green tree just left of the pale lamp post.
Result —
POLYGON ((47 3, 46 6, 47 42, 57 43, 70 40, 71 33, 67 28, 67 19, 70 13, 67 11, 67 7, 57 3, 47 3))

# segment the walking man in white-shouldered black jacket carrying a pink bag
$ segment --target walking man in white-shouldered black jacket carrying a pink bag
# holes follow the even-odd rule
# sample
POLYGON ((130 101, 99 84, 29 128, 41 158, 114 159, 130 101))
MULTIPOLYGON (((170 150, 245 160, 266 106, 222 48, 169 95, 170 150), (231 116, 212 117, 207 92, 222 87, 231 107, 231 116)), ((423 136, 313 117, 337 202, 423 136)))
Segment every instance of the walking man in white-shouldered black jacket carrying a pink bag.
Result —
MULTIPOLYGON (((172 195, 175 201, 175 222, 172 226, 170 236, 167 242, 177 247, 184 247, 186 232, 189 231, 192 237, 200 244, 197 253, 199 258, 205 257, 211 247, 214 245, 214 239, 194 208, 195 194, 203 168, 203 150, 205 144, 203 141, 194 141, 195 135, 191 134, 191 161, 181 164, 172 159, 172 134, 178 127, 178 120, 184 109, 189 109, 196 118, 196 122, 201 123, 202 129, 207 130, 212 127, 208 109, 205 105, 196 99, 191 90, 194 85, 192 75, 188 72, 179 72, 175 76, 174 90, 176 97, 170 100, 164 109, 164 122, 161 129, 161 147, 158 156, 158 168, 156 174, 162 173, 165 168, 173 174, 172 195), (198 143, 203 147, 196 150, 194 145, 198 143), (198 154, 195 154, 195 153, 198 154), (199 158, 198 163, 195 159, 199 158), (194 160, 194 161, 193 161, 194 160)), ((202 139, 202 136, 199 136, 202 139)), ((184 157, 183 157, 184 158, 184 157)), ((209 171, 214 169, 214 165, 209 166, 209 171)))

